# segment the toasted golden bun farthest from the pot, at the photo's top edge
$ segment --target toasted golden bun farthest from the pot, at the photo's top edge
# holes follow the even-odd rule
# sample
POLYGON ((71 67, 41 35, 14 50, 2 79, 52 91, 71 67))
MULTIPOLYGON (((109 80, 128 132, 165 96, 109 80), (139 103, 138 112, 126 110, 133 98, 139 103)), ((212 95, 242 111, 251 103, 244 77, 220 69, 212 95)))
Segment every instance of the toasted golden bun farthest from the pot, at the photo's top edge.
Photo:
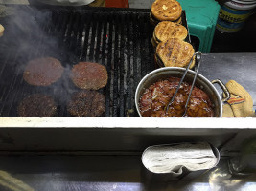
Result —
POLYGON ((151 13, 159 21, 175 21, 181 16, 182 8, 176 0, 156 0, 151 13))

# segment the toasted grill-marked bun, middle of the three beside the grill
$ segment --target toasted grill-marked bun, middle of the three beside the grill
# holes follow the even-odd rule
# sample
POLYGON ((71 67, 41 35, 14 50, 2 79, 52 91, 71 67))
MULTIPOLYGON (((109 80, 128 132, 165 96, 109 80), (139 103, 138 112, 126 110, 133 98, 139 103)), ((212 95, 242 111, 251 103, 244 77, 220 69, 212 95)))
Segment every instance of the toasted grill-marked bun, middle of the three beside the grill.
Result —
POLYGON ((183 25, 170 21, 158 23, 153 31, 153 37, 158 42, 166 41, 169 38, 178 38, 180 40, 184 40, 187 35, 188 31, 183 25))

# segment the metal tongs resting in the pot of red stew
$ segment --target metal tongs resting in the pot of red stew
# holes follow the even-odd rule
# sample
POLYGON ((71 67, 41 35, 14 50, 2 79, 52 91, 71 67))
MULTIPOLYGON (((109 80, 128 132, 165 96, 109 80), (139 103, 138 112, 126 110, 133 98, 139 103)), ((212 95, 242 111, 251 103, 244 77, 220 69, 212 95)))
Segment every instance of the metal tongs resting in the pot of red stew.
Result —
POLYGON ((178 92, 178 90, 179 90, 179 88, 180 88, 180 86, 181 86, 181 83, 183 82, 183 80, 184 80, 186 74, 188 73, 188 70, 189 70, 189 68, 190 68, 190 65, 191 65, 192 62, 193 62, 194 57, 196 57, 196 60, 198 61, 198 68, 197 68, 197 70, 196 70, 196 74, 195 74, 195 76, 194 76, 194 79, 193 79, 193 82, 192 82, 192 85, 191 85, 191 89, 190 89, 190 91, 189 91, 189 96, 188 96, 188 98, 187 98, 187 102, 186 102, 186 105, 185 105, 185 111, 184 111, 182 117, 185 117, 185 115, 187 114, 187 108, 188 108, 188 104, 189 104, 189 99, 190 99, 190 96, 191 96, 193 87, 194 87, 194 85, 195 85, 195 82, 196 82, 196 79, 197 79, 197 76, 198 76, 198 69, 199 69, 199 67, 200 67, 201 56, 202 56, 202 53, 201 53, 200 51, 198 51, 198 52, 196 52, 196 53, 194 53, 194 54, 192 55, 191 60, 190 60, 190 62, 189 62, 189 65, 187 66, 186 71, 184 72, 184 74, 183 74, 181 80, 179 81, 179 84, 178 84, 178 86, 177 86, 177 89, 176 89, 176 91, 175 91, 175 94, 174 94, 174 96, 172 97, 172 99, 169 101, 169 103, 168 103, 168 105, 167 105, 167 107, 166 107, 165 113, 168 112, 169 107, 173 104, 173 102, 174 102, 174 100, 175 100, 175 96, 176 96, 176 94, 177 94, 177 92, 178 92))

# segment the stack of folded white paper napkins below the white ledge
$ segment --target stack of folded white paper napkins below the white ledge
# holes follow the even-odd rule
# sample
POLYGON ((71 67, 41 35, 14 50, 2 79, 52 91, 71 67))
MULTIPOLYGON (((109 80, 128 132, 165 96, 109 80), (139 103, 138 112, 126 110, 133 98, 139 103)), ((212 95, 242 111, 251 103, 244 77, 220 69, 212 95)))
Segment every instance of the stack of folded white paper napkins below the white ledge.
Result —
POLYGON ((142 155, 144 166, 153 173, 182 174, 182 168, 189 171, 210 169, 219 159, 206 142, 155 145, 142 155))

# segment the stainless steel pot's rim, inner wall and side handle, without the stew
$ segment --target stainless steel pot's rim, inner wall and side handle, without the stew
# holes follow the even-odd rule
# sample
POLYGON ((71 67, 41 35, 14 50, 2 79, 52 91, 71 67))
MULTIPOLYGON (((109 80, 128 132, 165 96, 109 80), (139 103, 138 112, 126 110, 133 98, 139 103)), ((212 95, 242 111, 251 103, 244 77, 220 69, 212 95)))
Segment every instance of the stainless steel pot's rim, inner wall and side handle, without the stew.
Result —
MULTIPOLYGON (((142 116, 139 110, 139 99, 144 93, 144 91, 147 88, 149 88, 151 84, 155 83, 160 79, 166 79, 171 76, 181 78, 185 70, 186 69, 179 68, 179 67, 164 67, 164 68, 156 69, 152 71, 150 74, 147 74, 142 78, 139 85, 137 86, 136 93, 135 93, 136 109, 140 117, 142 116)), ((185 76, 184 81, 189 83, 192 82, 195 74, 196 73, 194 71, 189 70, 185 76)), ((195 85, 201 90, 203 90, 210 97, 214 107, 214 117, 222 117, 222 102, 228 100, 230 98, 230 94, 226 89, 226 87, 224 86, 224 84, 221 82, 221 80, 216 79, 210 82, 203 75, 198 74, 195 85), (218 83, 221 86, 221 89, 226 95, 224 99, 221 100, 221 96, 219 95, 218 91, 213 85, 214 83, 218 83)))

